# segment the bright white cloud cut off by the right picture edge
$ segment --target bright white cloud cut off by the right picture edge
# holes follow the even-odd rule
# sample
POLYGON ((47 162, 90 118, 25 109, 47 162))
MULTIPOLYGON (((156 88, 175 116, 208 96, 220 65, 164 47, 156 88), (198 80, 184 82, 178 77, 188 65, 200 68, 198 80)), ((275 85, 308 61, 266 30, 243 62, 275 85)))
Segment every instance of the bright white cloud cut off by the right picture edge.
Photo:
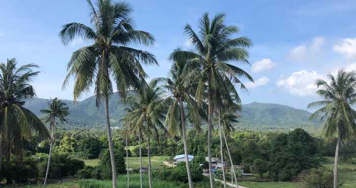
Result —
POLYGON ((341 53, 346 58, 356 57, 356 38, 350 39, 346 38, 342 40, 342 43, 334 45, 335 52, 341 53))

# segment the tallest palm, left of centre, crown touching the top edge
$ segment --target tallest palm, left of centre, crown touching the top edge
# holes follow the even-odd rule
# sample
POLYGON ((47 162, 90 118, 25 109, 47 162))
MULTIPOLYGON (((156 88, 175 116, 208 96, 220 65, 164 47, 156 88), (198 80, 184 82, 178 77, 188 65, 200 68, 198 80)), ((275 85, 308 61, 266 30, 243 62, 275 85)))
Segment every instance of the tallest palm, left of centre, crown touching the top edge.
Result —
POLYGON ((116 187, 116 167, 108 107, 108 100, 113 92, 112 81, 116 84, 120 95, 125 98, 128 88, 143 87, 146 74, 141 63, 152 65, 158 62, 150 52, 127 47, 135 43, 144 45, 154 43, 151 34, 134 29, 132 19, 129 17, 132 8, 127 3, 100 0, 96 7, 90 0, 87 0, 87 3, 91 9, 90 18, 94 28, 72 22, 63 25, 60 36, 64 45, 68 45, 75 37, 81 37, 94 44, 73 52, 67 65, 68 75, 63 86, 68 83, 70 77, 74 76, 74 101, 92 86, 95 87, 98 107, 104 99, 112 186, 116 187))

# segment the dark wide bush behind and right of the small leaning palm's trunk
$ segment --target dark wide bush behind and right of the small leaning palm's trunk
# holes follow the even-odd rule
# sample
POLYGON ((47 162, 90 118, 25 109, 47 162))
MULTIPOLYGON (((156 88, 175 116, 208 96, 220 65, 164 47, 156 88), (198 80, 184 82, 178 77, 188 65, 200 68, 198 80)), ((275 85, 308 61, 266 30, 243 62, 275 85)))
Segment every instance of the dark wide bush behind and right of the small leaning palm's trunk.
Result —
MULTIPOLYGON (((78 170, 84 168, 84 162, 77 159, 72 159, 68 154, 53 153, 51 156, 51 163, 49 166, 49 178, 61 178, 64 176, 73 176, 78 170)), ((46 175, 47 160, 40 163, 40 176, 46 175)))

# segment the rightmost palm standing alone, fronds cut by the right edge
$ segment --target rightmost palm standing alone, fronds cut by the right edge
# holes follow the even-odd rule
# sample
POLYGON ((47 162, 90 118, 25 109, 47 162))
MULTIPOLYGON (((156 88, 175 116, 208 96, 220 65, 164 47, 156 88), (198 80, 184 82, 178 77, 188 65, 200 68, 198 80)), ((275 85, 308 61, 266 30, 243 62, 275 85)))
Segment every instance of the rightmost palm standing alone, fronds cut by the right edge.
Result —
POLYGON ((325 119, 324 130, 327 137, 337 135, 337 143, 334 161, 334 188, 337 184, 337 165, 340 144, 356 133, 356 111, 351 108, 356 103, 356 74, 340 70, 336 77, 328 74, 329 82, 319 79, 316 86, 320 88, 316 93, 324 98, 308 105, 321 107, 316 110, 310 119, 318 116, 325 119))

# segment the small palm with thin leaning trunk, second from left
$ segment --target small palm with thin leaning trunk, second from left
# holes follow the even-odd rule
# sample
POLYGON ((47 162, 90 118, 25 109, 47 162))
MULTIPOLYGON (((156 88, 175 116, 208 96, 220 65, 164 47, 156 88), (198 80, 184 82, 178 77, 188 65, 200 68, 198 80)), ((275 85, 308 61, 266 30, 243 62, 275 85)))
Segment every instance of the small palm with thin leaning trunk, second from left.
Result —
POLYGON ((48 163, 45 180, 43 182, 43 188, 46 186, 46 181, 49 172, 49 164, 51 162, 51 153, 52 153, 52 145, 54 142, 54 130, 55 130, 55 118, 60 119, 62 123, 67 122, 66 116, 69 115, 69 108, 67 104, 54 98, 52 101, 48 101, 49 109, 41 110, 41 113, 47 114, 45 117, 45 122, 50 123, 50 128, 52 130, 50 146, 49 146, 49 155, 48 155, 48 163))

